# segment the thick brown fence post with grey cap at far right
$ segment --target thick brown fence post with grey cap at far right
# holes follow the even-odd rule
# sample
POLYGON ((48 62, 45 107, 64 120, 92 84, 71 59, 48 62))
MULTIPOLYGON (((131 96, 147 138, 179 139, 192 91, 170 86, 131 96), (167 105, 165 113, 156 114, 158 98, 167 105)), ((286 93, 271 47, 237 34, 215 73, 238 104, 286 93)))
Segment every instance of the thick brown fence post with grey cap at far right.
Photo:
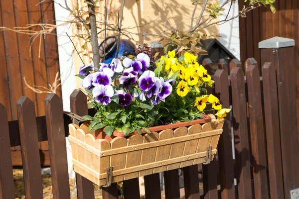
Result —
POLYGON ((261 61, 272 62, 276 67, 278 102, 285 198, 299 188, 297 167, 299 165, 299 140, 296 113, 296 66, 295 40, 273 37, 261 41, 261 61))

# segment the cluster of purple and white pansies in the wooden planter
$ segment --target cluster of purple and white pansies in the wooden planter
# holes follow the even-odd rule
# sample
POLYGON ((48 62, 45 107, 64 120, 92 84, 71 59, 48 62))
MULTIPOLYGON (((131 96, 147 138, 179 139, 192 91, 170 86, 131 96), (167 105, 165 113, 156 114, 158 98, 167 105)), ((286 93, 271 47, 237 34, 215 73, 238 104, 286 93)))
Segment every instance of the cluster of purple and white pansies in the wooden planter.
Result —
POLYGON ((175 80, 155 77, 155 73, 148 70, 149 63, 149 56, 140 53, 134 61, 125 58, 122 64, 119 59, 113 59, 109 64, 101 64, 98 71, 92 65, 84 66, 80 68, 80 75, 85 76, 81 85, 92 90, 95 101, 104 105, 115 96, 121 106, 128 106, 137 99, 156 105, 171 94, 175 80))

